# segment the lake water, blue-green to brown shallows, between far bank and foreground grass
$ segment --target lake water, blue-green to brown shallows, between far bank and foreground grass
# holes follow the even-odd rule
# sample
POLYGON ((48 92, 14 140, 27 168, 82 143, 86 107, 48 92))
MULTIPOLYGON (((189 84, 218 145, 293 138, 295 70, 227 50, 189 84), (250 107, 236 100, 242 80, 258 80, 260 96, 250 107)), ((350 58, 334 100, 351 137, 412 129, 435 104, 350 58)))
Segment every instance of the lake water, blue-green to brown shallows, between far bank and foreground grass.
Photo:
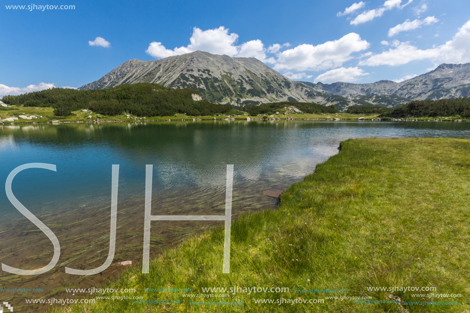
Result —
MULTIPOLYGON (((30 169, 19 173, 12 190, 51 228, 62 248, 59 263, 48 274, 19 279, 0 272, 0 284, 44 285, 54 290, 71 284, 99 284, 112 276, 105 273, 84 282, 64 273, 64 266, 94 268, 106 259, 112 164, 120 166, 114 261, 138 262, 146 164, 154 166, 153 215, 222 215, 226 166, 234 164, 232 212, 237 216, 275 208, 275 195, 336 154, 341 141, 369 137, 470 138, 470 123, 276 120, 0 127, 2 184, 19 165, 56 165, 56 172, 30 169), (48 281, 47 275, 55 277, 48 281)), ((52 244, 13 207, 5 191, 0 193, 0 213, 0 261, 24 269, 47 264, 52 244)), ((152 222, 151 252, 154 255, 214 225, 221 222, 152 222)))

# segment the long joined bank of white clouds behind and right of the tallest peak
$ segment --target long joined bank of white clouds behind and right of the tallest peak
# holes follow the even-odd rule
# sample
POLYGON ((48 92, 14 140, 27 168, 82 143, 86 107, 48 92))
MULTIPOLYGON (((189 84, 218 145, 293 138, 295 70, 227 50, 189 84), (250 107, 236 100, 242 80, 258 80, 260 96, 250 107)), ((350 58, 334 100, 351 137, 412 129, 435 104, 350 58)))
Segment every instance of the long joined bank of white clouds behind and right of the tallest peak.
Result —
MULTIPOLYGON (((154 41, 146 50, 155 58, 180 55, 197 50, 214 54, 227 54, 235 57, 254 57, 274 65, 274 69, 285 72, 292 79, 312 78, 305 71, 329 70, 341 67, 344 62, 353 58, 353 53, 366 50, 370 44, 361 39, 356 33, 326 41, 319 45, 302 44, 293 48, 289 43, 273 44, 265 47, 260 39, 237 44, 238 35, 230 33, 229 29, 221 26, 216 29, 193 29, 190 44, 187 46, 168 49, 162 43, 154 41)), ((369 57, 371 53, 363 54, 369 57)))

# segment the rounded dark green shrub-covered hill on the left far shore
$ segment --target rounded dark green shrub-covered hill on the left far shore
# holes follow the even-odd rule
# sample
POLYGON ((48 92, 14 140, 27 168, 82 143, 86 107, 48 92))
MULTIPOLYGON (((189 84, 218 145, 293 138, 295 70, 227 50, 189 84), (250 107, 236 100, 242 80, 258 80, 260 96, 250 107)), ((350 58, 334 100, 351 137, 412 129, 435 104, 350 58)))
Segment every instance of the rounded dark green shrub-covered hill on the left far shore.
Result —
POLYGON ((19 96, 5 96, 8 105, 52 107, 54 115, 68 116, 72 111, 90 109, 108 115, 130 113, 136 116, 192 116, 226 113, 232 108, 202 100, 192 89, 171 89, 158 84, 121 85, 103 90, 53 88, 19 96))

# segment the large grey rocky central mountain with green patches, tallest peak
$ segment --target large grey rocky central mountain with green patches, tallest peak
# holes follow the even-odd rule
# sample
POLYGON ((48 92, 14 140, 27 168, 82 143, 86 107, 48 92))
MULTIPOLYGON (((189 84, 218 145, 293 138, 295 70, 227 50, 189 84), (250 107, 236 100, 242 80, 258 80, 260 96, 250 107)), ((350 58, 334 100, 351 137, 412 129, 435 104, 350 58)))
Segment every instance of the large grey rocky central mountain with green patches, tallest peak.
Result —
MULTIPOLYGON (((335 97, 293 81, 255 58, 196 51, 160 60, 126 61, 81 90, 156 82, 171 88, 193 88, 208 101, 233 105, 272 101, 335 102, 335 97), (324 98, 332 98, 325 101, 324 98)), ((336 102, 340 102, 339 98, 336 102)))

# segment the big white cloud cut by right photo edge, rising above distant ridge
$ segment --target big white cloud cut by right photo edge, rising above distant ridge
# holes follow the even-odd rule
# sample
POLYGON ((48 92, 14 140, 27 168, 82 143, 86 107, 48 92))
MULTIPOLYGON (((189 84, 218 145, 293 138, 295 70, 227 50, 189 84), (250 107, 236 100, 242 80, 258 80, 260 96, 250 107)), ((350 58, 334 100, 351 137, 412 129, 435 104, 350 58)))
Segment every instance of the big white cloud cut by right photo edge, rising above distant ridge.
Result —
POLYGON ((398 66, 415 60, 430 59, 435 63, 466 63, 470 62, 470 20, 466 22, 445 44, 430 48, 418 49, 410 43, 394 40, 394 48, 359 62, 359 65, 398 66))

